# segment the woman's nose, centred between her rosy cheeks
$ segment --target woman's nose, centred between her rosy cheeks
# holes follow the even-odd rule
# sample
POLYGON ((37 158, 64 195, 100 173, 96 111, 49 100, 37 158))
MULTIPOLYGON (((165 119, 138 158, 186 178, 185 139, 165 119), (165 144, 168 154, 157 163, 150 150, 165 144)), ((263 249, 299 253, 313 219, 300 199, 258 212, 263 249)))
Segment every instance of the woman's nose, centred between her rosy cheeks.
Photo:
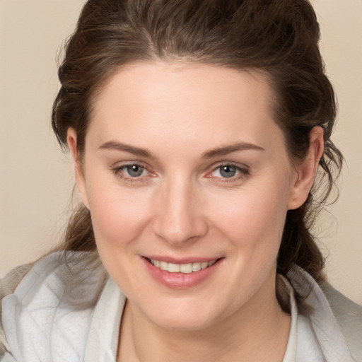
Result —
POLYGON ((165 183, 156 198, 158 213, 153 228, 158 238, 175 246, 202 238, 208 223, 197 186, 180 179, 165 183))

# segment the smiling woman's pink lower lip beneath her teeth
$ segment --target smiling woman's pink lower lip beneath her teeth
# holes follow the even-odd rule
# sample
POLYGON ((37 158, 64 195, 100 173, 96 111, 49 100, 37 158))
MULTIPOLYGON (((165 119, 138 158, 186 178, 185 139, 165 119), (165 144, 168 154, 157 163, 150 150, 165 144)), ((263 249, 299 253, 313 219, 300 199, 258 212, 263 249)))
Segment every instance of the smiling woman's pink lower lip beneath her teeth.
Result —
POLYGON ((174 289, 186 289, 192 286, 197 286, 213 274, 221 264, 222 259, 216 260, 216 262, 205 269, 199 271, 193 271, 192 273, 170 273, 170 271, 161 270, 155 267, 153 264, 147 261, 146 258, 141 257, 148 272, 153 276, 153 279, 161 284, 174 289))

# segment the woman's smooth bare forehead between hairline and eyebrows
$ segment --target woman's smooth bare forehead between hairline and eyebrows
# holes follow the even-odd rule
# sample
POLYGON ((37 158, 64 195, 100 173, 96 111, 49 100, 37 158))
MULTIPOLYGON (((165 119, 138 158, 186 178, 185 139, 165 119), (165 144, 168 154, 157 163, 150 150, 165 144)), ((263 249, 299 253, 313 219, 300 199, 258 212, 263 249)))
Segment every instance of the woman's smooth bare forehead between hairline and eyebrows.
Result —
POLYGON ((111 76, 98 93, 88 134, 98 143, 127 136, 136 146, 160 140, 187 146, 204 139, 212 146, 240 139, 257 144, 276 127, 273 99, 261 71, 134 63, 111 76))

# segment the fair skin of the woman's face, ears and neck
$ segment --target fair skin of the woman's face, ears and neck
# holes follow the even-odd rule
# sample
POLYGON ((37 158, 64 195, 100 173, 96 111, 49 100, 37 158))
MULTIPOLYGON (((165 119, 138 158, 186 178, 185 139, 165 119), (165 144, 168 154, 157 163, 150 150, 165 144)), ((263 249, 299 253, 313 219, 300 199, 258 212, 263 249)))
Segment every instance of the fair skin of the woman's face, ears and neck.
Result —
POLYGON ((287 210, 313 184, 322 129, 295 165, 272 106, 265 74, 144 62, 98 94, 82 163, 69 129, 100 258, 128 298, 119 361, 283 358, 290 317, 276 300, 276 257, 287 210), (139 177, 126 167, 134 164, 139 177), (220 260, 201 283, 172 288, 148 272, 149 255, 220 260))

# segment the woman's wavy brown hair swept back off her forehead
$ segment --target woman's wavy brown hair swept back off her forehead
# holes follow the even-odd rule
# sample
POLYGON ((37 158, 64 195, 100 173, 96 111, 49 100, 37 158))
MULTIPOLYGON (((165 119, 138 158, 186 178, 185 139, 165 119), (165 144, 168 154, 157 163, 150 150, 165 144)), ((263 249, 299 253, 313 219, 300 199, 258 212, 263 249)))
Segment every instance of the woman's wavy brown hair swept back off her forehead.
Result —
MULTIPOLYGON (((266 72, 291 159, 305 157, 313 127, 325 132, 319 176, 305 204, 288 211, 277 264, 283 275, 297 264, 320 281, 324 259, 310 228, 343 158, 330 140, 336 103, 319 38, 307 0, 88 0, 59 67, 52 127, 63 148, 69 127, 76 130, 81 157, 93 99, 130 62, 179 60, 266 72), (313 199, 316 189, 319 199, 313 199)), ((61 249, 96 250, 84 206, 70 219, 61 249)))

